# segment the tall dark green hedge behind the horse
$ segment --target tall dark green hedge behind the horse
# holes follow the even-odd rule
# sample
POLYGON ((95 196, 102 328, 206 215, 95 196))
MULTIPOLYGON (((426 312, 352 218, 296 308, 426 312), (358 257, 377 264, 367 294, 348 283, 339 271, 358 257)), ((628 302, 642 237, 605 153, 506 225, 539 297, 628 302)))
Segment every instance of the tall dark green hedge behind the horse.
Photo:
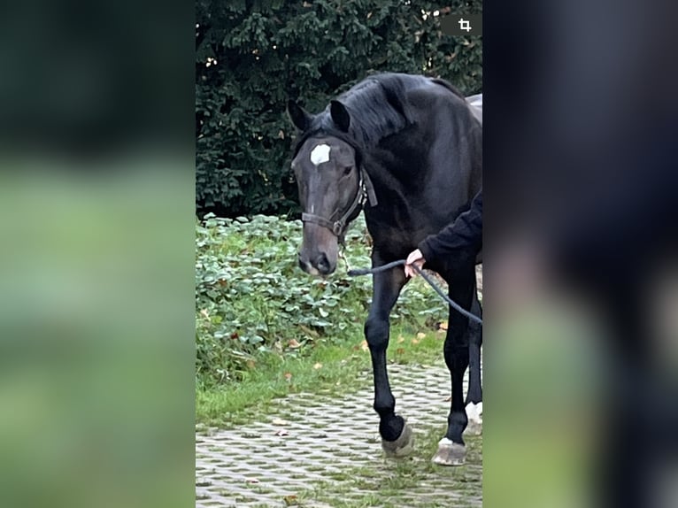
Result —
MULTIPOLYGON (((198 0, 196 209, 235 217, 297 211, 288 98, 319 111, 377 71, 482 89, 482 42, 451 37, 419 0, 198 0)), ((481 12, 482 1, 452 9, 481 12)))

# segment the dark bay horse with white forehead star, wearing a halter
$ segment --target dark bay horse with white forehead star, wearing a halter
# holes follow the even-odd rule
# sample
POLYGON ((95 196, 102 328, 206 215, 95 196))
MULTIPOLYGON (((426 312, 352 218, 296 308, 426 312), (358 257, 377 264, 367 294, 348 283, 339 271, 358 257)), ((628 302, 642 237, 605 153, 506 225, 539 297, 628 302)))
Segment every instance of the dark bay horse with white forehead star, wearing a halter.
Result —
MULTIPOLYGON (((335 271, 346 227, 362 209, 373 238, 372 265, 382 266, 406 258, 427 235, 450 224, 482 187, 482 119, 447 81, 375 74, 323 112, 313 115, 289 101, 288 113, 299 130, 292 169, 304 210, 298 262, 307 273, 335 271)), ((460 270, 448 265, 425 267, 448 282, 452 300, 480 314, 474 266, 460 270)), ((395 412, 386 350, 389 313, 407 280, 398 266, 375 273, 373 281, 365 336, 374 370, 374 410, 380 416, 383 449, 399 456, 412 449, 412 429, 395 412)), ((481 327, 451 310, 444 343, 451 411, 433 458, 436 464, 465 461, 462 434, 468 418, 462 382, 470 357, 466 403, 480 403, 481 342, 481 327)))

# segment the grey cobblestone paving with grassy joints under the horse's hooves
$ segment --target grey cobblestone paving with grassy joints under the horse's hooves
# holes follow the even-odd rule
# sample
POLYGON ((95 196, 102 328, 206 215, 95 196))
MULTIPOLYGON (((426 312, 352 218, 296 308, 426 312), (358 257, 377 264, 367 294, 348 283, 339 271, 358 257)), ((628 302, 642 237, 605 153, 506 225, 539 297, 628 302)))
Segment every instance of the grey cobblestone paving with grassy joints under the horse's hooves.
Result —
MULTIPOLYGON (((430 457, 420 449, 420 440, 427 433, 436 433, 436 440, 443 436, 450 374, 444 366, 389 366, 389 377, 397 412, 412 425, 419 442, 414 456, 421 457, 415 459, 422 467, 428 465, 430 457)), ((383 458, 372 403, 372 377, 366 373, 364 388, 346 396, 291 395, 277 400, 275 409, 259 421, 231 430, 196 432, 196 506, 332 506, 314 498, 304 500, 300 493, 319 485, 331 492, 347 471, 359 476, 371 469, 385 478, 392 476, 397 460, 383 458)), ((396 505, 482 506, 482 454, 472 444, 468 448, 466 466, 442 468, 437 478, 406 489, 396 505), (454 481, 474 488, 451 489, 451 474, 454 481)), ((375 494, 374 489, 354 485, 337 492, 342 505, 375 494)))

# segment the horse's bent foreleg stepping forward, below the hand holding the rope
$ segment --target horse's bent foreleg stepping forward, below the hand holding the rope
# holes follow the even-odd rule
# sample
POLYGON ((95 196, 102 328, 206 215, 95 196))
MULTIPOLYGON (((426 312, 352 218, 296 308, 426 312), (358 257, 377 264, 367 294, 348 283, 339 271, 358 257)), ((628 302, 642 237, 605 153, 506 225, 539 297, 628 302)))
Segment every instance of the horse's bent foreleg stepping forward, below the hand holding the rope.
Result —
MULTIPOLYGON (((374 265, 381 265, 374 260, 374 265)), ((365 323, 365 338, 372 357, 374 373, 374 411, 379 414, 381 445, 387 454, 404 455, 412 449, 412 430, 396 414, 396 399, 391 393, 386 369, 389 347, 389 314, 396 304, 405 277, 401 267, 373 276, 373 297, 365 323)))

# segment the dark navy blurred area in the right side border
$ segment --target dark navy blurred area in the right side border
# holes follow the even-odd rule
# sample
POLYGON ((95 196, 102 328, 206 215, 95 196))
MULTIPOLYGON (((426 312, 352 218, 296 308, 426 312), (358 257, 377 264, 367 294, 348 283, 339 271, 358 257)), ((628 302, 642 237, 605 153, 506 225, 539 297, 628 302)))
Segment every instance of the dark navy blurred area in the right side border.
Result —
POLYGON ((597 304, 612 383, 596 500, 666 505, 656 482, 678 458, 678 398, 656 312, 678 265, 675 5, 498 4, 484 4, 486 265, 527 231, 552 289, 597 304))

